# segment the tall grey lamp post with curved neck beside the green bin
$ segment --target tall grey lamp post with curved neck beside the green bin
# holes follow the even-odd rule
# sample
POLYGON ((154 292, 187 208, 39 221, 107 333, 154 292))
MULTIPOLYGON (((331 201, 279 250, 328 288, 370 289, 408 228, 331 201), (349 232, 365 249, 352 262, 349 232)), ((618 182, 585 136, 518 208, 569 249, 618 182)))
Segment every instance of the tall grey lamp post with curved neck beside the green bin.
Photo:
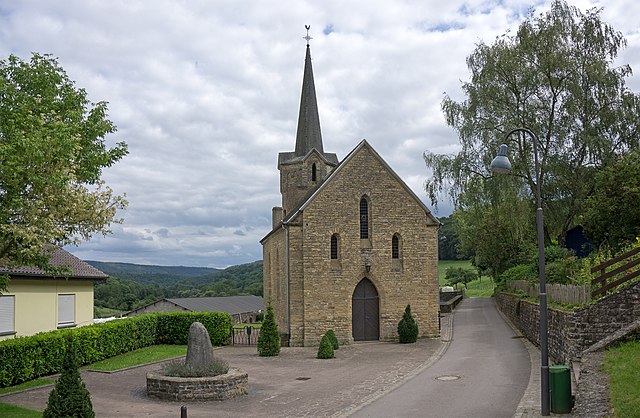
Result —
MULTIPOLYGON (((522 132, 533 139, 533 157, 536 172, 536 224, 538 229, 538 271, 540 273, 540 381, 541 381, 541 414, 549 415, 549 344, 547 340, 547 287, 544 271, 544 227, 542 223, 542 197, 540 195, 540 163, 538 161, 538 137, 527 128, 515 128, 505 136, 505 142, 509 137, 522 132)), ((507 157, 509 147, 507 144, 500 145, 498 156, 491 161, 491 170, 496 173, 510 173, 511 162, 507 157)))

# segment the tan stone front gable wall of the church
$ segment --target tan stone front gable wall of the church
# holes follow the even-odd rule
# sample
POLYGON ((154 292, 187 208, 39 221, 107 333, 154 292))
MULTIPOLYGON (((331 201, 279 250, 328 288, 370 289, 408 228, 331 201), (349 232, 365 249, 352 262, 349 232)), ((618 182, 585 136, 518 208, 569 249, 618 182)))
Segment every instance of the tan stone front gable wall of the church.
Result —
POLYGON ((304 306, 304 314, 295 319, 292 315, 292 341, 293 329, 300 326, 303 333, 297 334, 296 341, 304 345, 317 345, 328 329, 342 343, 353 341, 352 295, 364 278, 379 294, 381 340, 397 339, 397 325, 407 304, 420 336, 438 334, 437 226, 369 149, 362 148, 341 168, 305 208, 301 222, 301 239, 290 243, 292 250, 303 254, 302 271, 298 266, 292 269, 303 283, 300 293, 292 291, 291 305, 304 306), (363 196, 370 201, 370 240, 359 235, 363 196), (332 263, 333 234, 339 237, 339 259, 332 263), (396 265, 391 257, 394 234, 400 236, 396 265), (365 264, 371 266, 369 272, 365 264))

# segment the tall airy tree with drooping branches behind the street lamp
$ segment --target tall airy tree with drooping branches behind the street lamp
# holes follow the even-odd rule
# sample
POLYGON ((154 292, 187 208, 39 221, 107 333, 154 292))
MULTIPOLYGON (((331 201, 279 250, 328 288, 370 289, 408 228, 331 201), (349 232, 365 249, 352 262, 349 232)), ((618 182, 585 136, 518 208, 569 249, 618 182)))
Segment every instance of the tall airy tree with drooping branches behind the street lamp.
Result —
POLYGON ((532 139, 510 138, 514 176, 509 180, 498 180, 487 169, 505 133, 528 127, 540 140, 546 239, 564 236, 593 192, 595 172, 638 147, 640 100, 625 86, 631 68, 614 66, 625 45, 623 35, 601 20, 600 10, 583 13, 563 1, 527 17, 516 33, 477 45, 467 58, 466 98, 458 102, 446 95, 442 102, 461 149, 455 155, 424 154, 433 170, 425 184, 432 202, 446 191, 457 209, 468 208, 469 201, 495 208, 497 183, 508 182, 502 186, 518 188, 514 199, 529 201, 533 217, 532 139), (476 178, 485 185, 468 191, 476 178), (468 193, 481 196, 464 203, 460 198, 468 193))

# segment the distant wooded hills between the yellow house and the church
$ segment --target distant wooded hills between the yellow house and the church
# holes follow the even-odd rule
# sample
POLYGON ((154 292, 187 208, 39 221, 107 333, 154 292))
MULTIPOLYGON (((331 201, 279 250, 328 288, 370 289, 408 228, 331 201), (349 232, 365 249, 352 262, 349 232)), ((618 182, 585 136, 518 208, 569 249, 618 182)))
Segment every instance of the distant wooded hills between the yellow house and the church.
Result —
POLYGON ((87 261, 110 277, 95 287, 99 308, 130 311, 162 298, 262 296, 262 261, 224 270, 87 261))

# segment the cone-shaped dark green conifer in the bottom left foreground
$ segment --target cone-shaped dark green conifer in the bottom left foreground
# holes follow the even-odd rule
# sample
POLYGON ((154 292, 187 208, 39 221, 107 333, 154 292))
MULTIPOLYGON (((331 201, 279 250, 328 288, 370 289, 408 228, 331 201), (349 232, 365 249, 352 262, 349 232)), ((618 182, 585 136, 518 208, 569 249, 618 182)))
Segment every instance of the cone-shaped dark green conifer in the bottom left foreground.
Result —
POLYGON ((62 362, 62 374, 49 394, 44 418, 95 417, 91 394, 80 377, 80 364, 73 336, 67 334, 67 346, 62 362))

